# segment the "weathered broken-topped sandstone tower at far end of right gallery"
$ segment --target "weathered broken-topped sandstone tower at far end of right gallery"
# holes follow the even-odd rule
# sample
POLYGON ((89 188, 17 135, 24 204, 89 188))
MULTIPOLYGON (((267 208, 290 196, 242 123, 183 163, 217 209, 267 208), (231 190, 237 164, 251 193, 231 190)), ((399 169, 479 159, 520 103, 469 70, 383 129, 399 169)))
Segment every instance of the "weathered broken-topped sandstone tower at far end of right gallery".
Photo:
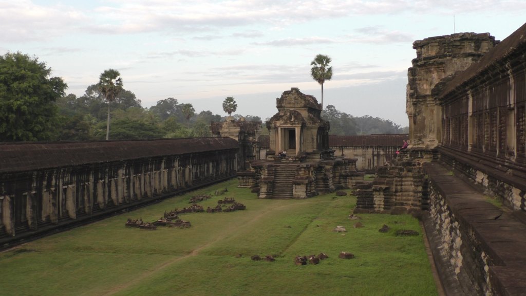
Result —
POLYGON ((488 33, 458 33, 413 43, 417 57, 407 74, 406 102, 410 147, 432 149, 440 144, 442 114, 431 93, 433 87, 478 61, 494 44, 488 33))

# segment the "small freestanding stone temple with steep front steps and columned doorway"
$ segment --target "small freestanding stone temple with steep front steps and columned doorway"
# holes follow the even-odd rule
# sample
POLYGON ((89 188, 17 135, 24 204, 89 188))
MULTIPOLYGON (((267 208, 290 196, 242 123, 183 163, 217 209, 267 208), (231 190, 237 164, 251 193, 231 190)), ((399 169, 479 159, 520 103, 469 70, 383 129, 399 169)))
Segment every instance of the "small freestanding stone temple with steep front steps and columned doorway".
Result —
POLYGON ((252 188, 259 198, 305 199, 363 180, 356 159, 335 157, 329 149, 330 125, 315 97, 293 87, 276 99, 276 107, 267 122, 269 148, 238 173, 240 187, 252 188))

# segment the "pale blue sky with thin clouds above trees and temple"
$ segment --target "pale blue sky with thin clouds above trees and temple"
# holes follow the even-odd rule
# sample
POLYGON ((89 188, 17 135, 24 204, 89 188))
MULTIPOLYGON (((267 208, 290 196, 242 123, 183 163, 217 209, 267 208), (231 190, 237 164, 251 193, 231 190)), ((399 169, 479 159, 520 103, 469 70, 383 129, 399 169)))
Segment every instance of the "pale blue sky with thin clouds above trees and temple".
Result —
POLYGON ((526 0, 0 0, 0 54, 36 56, 82 96, 108 68, 143 107, 168 97, 197 112, 265 120, 291 87, 321 101, 310 62, 328 55, 323 104, 408 125, 412 43, 460 32, 503 40, 526 0))

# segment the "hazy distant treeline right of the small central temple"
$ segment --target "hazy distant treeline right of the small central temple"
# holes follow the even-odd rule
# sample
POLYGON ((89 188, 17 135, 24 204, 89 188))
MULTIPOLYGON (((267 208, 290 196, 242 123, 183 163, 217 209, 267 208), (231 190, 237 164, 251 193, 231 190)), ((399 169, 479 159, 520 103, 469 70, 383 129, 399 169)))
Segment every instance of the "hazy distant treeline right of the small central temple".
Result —
POLYGON ((370 134, 401 134, 408 133, 409 127, 401 127, 390 120, 369 115, 354 117, 336 110, 333 105, 327 105, 322 113, 323 119, 330 122, 331 135, 370 135, 370 134))

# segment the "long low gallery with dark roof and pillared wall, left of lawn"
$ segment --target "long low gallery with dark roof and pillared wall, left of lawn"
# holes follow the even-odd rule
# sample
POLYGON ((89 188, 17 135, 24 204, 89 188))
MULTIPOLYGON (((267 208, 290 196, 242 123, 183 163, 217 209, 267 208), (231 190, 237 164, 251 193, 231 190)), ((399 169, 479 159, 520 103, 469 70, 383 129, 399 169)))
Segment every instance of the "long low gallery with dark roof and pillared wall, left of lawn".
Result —
POLYGON ((234 177, 229 138, 0 144, 0 243, 234 177))

